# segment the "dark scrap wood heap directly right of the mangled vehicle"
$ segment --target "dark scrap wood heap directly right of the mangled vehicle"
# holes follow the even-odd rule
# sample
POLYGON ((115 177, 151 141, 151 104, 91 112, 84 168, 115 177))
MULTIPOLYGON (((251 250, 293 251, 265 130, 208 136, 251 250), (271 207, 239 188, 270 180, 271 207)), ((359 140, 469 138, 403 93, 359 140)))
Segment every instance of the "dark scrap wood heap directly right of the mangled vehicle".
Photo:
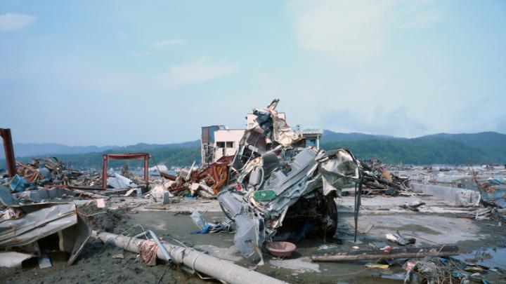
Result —
POLYGON ((394 175, 380 159, 360 161, 363 170, 363 191, 365 194, 386 194, 396 196, 409 189, 409 178, 394 175))

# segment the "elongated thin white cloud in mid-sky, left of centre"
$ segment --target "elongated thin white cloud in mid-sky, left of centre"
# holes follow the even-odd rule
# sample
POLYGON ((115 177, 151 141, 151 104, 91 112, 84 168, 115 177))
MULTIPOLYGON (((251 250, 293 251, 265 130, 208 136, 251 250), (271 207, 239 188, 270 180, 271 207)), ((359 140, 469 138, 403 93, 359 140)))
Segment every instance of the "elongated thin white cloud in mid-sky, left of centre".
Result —
POLYGON ((162 86, 177 88, 184 84, 202 83, 230 76, 238 67, 238 64, 200 59, 183 65, 174 65, 158 80, 162 86))

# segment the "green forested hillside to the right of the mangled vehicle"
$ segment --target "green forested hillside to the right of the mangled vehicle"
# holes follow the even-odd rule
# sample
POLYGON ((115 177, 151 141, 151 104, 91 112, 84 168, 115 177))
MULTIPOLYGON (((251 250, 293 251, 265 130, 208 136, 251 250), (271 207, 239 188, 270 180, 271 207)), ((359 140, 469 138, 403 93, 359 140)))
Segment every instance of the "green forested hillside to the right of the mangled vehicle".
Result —
MULTIPOLYGON (((326 131, 323 149, 346 147, 358 158, 382 158, 386 163, 466 164, 505 163, 506 135, 494 132, 436 134, 399 138, 326 131), (330 134, 330 135, 328 135, 330 134), (334 140, 332 140, 334 139, 334 140)), ((324 133, 324 135, 325 135, 324 133)))

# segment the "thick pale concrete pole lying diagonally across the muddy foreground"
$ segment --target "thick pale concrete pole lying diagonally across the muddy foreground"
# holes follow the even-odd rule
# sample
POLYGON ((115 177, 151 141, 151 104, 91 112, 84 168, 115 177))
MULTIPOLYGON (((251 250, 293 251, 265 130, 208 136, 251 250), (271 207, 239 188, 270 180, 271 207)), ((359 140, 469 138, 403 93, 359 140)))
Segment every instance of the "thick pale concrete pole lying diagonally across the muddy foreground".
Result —
MULTIPOLYGON (((103 243, 111 243, 118 248, 123 248, 129 252, 139 253, 140 245, 145 241, 140 238, 131 238, 129 236, 122 236, 117 234, 110 234, 105 232, 92 231, 91 236, 98 238, 103 243)), ((185 264, 194 271, 199 271, 208 276, 212 276, 218 280, 226 283, 244 283, 244 284, 278 284, 286 283, 284 281, 266 276, 257 271, 246 269, 232 262, 227 262, 211 255, 206 255, 204 252, 199 252, 193 248, 185 248, 179 245, 171 245, 164 243, 164 248, 169 252, 169 256, 176 264, 185 264)), ((158 248, 157 257, 163 260, 169 260, 164 255, 162 248, 158 248)))

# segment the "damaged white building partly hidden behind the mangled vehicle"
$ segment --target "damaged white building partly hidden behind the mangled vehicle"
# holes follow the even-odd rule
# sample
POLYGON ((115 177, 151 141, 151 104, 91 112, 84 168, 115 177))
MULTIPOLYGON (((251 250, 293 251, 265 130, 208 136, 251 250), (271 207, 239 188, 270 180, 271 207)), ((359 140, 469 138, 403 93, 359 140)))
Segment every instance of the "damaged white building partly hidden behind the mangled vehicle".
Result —
MULTIPOLYGON (((286 119, 284 112, 278 113, 281 119, 286 119)), ((247 114, 247 129, 253 128, 256 124, 254 114, 247 114)), ((202 165, 208 165, 218 161, 222 156, 233 156, 239 147, 239 142, 244 135, 245 129, 227 129, 225 126, 203 126, 202 138, 200 140, 200 151, 202 154, 202 165)), ((306 141, 313 142, 317 148, 320 147, 322 130, 304 130, 302 136, 306 141)))

